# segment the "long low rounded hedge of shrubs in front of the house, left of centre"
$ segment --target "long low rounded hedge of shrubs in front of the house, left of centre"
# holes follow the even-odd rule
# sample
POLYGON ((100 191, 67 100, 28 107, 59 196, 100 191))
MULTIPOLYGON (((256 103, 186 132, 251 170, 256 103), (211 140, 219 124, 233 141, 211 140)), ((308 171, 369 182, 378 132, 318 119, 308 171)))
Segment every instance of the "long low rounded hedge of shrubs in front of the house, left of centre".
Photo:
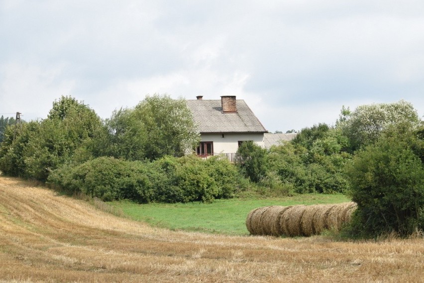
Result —
POLYGON ((212 201, 232 197, 238 172, 227 160, 166 156, 154 162, 100 157, 81 165, 65 165, 48 182, 103 200, 128 198, 139 202, 212 201))

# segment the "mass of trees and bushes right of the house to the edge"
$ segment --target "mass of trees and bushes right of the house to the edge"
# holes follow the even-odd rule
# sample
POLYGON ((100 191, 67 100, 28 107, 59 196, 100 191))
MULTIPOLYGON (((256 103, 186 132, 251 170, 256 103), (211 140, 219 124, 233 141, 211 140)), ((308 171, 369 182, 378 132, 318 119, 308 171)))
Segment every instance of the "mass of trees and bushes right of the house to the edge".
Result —
POLYGON ((424 228, 424 125, 409 102, 343 107, 334 126, 270 150, 243 143, 239 154, 244 176, 271 190, 349 195, 358 204, 350 235, 424 228))

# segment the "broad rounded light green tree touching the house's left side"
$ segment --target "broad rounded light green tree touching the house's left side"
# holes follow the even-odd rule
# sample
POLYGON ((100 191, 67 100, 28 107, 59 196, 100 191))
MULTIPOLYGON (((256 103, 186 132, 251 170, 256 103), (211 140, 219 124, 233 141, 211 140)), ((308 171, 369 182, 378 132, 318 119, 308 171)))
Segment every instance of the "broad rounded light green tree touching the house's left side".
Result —
POLYGON ((121 108, 106 120, 104 154, 127 160, 181 157, 200 141, 185 99, 154 94, 134 108, 121 108))

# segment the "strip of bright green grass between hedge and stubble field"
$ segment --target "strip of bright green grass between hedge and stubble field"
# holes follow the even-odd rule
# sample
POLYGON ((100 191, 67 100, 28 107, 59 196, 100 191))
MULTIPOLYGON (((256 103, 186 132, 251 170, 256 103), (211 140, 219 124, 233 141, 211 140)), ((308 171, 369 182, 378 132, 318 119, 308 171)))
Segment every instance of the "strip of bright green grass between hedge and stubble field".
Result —
POLYGON ((131 219, 147 222, 156 227, 227 235, 248 235, 245 220, 247 214, 256 207, 346 201, 350 201, 350 199, 342 194, 300 194, 269 199, 222 199, 212 203, 137 204, 129 201, 115 201, 110 204, 131 219))

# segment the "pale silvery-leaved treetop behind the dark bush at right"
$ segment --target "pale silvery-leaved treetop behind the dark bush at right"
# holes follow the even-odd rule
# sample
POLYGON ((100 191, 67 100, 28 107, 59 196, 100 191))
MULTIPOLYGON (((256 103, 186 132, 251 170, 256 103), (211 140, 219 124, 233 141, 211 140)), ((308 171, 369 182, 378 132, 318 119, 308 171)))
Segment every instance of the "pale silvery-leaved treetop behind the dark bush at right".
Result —
POLYGON ((351 152, 374 143, 380 133, 391 125, 415 127, 420 117, 414 106, 404 100, 358 106, 355 111, 342 108, 337 128, 349 139, 351 152))

